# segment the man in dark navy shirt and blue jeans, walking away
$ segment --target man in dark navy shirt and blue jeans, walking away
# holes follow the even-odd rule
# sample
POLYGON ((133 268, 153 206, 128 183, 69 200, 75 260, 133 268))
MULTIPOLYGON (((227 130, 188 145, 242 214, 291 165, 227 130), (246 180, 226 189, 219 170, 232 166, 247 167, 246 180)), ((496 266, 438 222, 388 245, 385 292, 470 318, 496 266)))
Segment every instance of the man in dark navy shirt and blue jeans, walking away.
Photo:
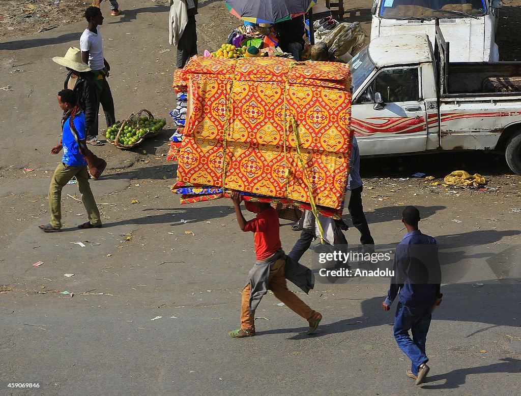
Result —
POLYGON ((429 358, 425 354, 427 332, 433 306, 441 302, 438 242, 432 236, 420 232, 419 220, 419 210, 414 206, 406 206, 402 222, 407 233, 396 246, 394 274, 387 298, 382 302, 383 310, 389 311, 400 293, 394 318, 394 338, 411 359, 411 369, 406 374, 416 380, 416 385, 424 382, 429 372, 429 358))

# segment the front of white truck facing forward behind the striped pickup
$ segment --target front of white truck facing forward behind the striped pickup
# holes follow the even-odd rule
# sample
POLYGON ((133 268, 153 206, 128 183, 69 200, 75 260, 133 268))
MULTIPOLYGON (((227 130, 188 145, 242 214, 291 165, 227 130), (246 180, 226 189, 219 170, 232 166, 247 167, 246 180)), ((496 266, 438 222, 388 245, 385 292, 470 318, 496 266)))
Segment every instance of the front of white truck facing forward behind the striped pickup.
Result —
POLYGON ((502 0, 374 0, 371 40, 405 33, 426 33, 435 39, 435 18, 446 41, 457 43, 457 62, 497 62, 498 9, 502 0))

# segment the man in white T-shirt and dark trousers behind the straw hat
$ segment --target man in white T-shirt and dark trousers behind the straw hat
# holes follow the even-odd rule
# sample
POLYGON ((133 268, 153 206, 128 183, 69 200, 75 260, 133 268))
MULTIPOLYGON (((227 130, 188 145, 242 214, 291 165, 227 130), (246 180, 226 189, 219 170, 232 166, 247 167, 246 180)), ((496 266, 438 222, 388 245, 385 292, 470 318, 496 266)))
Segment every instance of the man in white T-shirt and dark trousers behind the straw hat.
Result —
MULTIPOLYGON (((83 63, 89 65, 94 74, 94 85, 99 94, 98 110, 100 104, 103 106, 107 128, 116 123, 114 114, 114 99, 110 92, 110 86, 107 82, 110 65, 103 56, 103 43, 100 31, 100 25, 103 24, 103 15, 97 7, 89 7, 85 10, 85 19, 89 24, 80 37, 81 59, 83 63)), ((97 111, 96 111, 97 115, 97 111)), ((95 122, 95 130, 91 128, 92 134, 97 135, 97 117, 95 122)), ((101 146, 101 142, 97 140, 96 135, 87 137, 87 143, 93 146, 101 146)))

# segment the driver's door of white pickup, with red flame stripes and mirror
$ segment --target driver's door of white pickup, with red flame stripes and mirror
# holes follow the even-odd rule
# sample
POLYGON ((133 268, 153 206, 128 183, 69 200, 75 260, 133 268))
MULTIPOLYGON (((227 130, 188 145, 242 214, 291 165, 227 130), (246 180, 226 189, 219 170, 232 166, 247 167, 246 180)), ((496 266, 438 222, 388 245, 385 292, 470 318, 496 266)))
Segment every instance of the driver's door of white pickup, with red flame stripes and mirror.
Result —
POLYGON ((427 147, 427 112, 419 67, 383 69, 353 101, 351 128, 362 155, 413 153, 427 147), (375 105, 380 93, 383 107, 375 105))

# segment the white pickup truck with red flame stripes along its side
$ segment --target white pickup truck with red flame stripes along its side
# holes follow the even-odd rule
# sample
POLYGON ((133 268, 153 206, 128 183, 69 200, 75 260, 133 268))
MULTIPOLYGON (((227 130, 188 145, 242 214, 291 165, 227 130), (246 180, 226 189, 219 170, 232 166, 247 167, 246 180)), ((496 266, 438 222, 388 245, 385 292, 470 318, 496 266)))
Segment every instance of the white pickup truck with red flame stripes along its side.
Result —
POLYGON ((449 62, 437 27, 379 37, 351 61, 360 153, 501 150, 521 175, 521 62, 449 62))

